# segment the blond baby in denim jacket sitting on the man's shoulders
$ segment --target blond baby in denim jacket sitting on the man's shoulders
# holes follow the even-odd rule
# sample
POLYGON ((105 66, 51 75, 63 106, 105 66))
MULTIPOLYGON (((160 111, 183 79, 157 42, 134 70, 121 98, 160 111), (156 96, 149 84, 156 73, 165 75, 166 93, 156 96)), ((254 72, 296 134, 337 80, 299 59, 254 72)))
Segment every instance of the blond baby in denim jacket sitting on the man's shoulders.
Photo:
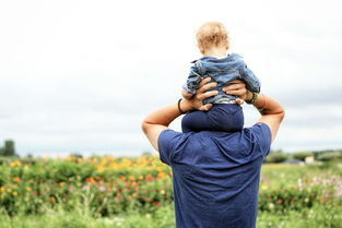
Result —
POLYGON ((247 89, 260 93, 260 82, 239 55, 228 53, 228 34, 222 23, 204 23, 197 32, 197 45, 203 57, 191 62, 193 65, 181 94, 185 98, 191 98, 201 79, 207 76, 217 83, 212 89, 219 91, 219 94, 203 100, 204 105, 213 104, 209 111, 193 111, 182 118, 182 132, 243 130, 243 109, 235 104, 238 97, 225 94, 222 88, 233 80, 241 80, 247 89))

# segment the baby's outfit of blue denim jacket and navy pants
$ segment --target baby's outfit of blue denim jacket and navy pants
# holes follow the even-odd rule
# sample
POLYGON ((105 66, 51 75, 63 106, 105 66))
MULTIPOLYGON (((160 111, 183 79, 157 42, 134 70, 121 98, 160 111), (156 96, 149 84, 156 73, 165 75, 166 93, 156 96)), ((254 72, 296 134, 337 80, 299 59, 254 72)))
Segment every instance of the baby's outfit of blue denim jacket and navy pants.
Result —
POLYGON ((244 128, 244 113, 238 98, 227 95, 222 88, 229 85, 233 80, 241 80, 250 92, 260 93, 260 82, 247 68, 243 58, 237 53, 231 53, 225 58, 203 57, 192 62, 187 83, 182 86, 190 94, 196 94, 200 80, 210 76, 217 86, 210 91, 219 91, 219 94, 203 100, 203 104, 213 104, 209 111, 193 111, 186 115, 181 121, 182 132, 199 131, 226 131, 235 132, 244 128))

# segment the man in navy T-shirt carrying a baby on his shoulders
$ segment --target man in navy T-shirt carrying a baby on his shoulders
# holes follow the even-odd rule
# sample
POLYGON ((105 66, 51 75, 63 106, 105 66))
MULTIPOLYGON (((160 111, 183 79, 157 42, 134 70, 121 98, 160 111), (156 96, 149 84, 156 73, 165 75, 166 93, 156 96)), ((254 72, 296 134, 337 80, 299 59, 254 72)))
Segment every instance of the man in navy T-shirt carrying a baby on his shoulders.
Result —
POLYGON ((235 81, 224 88, 241 104, 252 104, 261 117, 239 132, 188 132, 168 124, 192 109, 209 110, 202 100, 217 94, 208 89, 216 83, 204 79, 196 96, 181 99, 149 115, 142 129, 161 160, 172 167, 177 228, 253 228, 262 159, 268 155, 280 123, 283 107, 266 95, 246 89, 235 81))

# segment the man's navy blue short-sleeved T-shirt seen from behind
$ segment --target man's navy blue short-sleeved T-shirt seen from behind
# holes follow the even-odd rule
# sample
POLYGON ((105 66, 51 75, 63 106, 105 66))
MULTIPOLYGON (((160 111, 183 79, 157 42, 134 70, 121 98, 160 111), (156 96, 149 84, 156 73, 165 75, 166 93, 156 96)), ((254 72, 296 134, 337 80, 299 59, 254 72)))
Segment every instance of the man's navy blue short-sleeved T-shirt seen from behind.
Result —
POLYGON ((177 228, 253 228, 262 159, 271 131, 257 123, 240 132, 158 136, 161 160, 172 167, 177 228))

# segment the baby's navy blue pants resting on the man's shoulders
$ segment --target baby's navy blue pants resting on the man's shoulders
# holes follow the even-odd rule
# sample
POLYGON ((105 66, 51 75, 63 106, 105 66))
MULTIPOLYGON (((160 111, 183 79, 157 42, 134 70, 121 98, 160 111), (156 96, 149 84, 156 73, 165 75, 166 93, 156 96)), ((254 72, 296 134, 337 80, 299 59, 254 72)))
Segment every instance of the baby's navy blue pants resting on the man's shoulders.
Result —
POLYGON ((225 131, 244 128, 244 112, 237 104, 216 104, 209 111, 193 111, 181 120, 182 132, 225 131))

